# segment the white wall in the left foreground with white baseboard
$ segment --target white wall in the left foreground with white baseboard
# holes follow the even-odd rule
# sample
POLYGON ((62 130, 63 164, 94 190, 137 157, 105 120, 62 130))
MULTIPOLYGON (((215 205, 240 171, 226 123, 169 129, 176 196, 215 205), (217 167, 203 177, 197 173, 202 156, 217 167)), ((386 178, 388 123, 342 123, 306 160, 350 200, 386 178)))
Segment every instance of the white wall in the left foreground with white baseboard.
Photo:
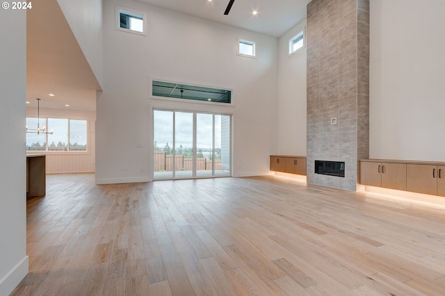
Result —
POLYGON ((9 295, 28 273, 25 10, 1 9, 0 26, 0 295, 9 295))

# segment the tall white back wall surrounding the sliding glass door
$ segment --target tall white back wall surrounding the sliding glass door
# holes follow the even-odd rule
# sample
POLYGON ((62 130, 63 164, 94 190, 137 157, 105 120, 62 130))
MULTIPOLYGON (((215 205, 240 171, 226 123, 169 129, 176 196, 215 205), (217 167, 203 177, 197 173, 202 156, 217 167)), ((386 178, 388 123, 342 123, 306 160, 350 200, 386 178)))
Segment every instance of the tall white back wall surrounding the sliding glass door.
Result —
POLYGON ((97 100, 97 183, 149 180, 150 108, 156 104, 149 99, 150 76, 233 88, 234 175, 268 173, 277 98, 276 38, 133 1, 106 1, 103 17, 106 50, 104 92, 97 100), (115 5, 146 12, 147 36, 115 30, 115 5), (237 38, 257 42, 256 59, 236 54, 237 38))

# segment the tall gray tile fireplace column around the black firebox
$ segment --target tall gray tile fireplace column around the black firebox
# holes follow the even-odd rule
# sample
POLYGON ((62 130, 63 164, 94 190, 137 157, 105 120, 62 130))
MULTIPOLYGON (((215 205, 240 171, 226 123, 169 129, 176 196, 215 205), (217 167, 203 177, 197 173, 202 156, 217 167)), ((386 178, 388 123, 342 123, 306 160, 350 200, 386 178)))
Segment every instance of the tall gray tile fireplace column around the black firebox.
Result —
POLYGON ((369 0, 307 5, 307 183, 355 191, 369 157, 369 0), (337 118, 337 124, 331 119, 337 118), (345 178, 314 173, 344 161, 345 178))

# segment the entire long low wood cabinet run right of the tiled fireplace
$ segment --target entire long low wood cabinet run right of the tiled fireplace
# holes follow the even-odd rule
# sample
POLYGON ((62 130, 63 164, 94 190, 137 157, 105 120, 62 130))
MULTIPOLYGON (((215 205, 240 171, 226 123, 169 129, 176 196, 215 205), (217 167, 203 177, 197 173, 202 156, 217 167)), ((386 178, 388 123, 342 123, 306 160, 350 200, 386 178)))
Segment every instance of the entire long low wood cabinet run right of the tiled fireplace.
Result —
POLYGON ((445 164, 421 161, 359 161, 359 182, 445 197, 445 164))

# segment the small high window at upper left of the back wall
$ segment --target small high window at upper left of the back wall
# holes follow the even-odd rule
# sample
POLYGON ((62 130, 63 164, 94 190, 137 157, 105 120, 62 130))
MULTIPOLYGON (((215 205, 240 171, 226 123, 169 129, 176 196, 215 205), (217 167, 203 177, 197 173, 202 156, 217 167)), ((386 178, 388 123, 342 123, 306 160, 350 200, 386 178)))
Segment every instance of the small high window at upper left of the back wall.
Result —
POLYGON ((146 35, 145 23, 147 14, 131 10, 129 8, 123 8, 116 6, 116 26, 115 28, 120 31, 127 31, 140 35, 146 35))

